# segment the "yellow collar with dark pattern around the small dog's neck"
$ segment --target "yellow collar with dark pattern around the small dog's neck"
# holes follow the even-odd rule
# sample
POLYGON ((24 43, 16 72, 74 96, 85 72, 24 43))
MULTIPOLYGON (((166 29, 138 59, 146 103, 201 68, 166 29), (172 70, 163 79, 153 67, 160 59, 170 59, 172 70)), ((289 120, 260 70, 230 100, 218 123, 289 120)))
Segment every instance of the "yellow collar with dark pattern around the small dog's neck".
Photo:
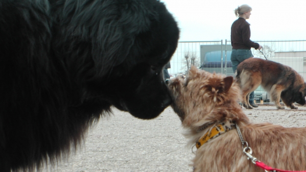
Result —
POLYGON ((225 125, 224 123, 219 124, 215 127, 213 127, 211 130, 209 130, 208 132, 206 132, 204 134, 203 137, 201 137, 197 143, 196 143, 196 147, 197 149, 200 148, 201 145, 203 145, 204 143, 206 143, 209 139, 211 138, 216 138, 219 135, 233 129, 236 128, 236 126, 234 125, 234 123, 230 122, 229 125, 225 125))

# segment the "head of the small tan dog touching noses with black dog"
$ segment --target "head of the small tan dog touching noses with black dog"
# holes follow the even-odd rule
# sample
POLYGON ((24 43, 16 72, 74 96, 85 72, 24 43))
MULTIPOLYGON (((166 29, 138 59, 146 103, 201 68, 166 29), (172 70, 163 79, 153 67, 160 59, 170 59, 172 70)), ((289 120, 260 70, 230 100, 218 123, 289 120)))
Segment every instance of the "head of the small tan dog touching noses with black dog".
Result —
POLYGON ((209 73, 192 66, 185 79, 169 81, 172 94, 172 108, 180 117, 183 125, 190 126, 201 120, 206 113, 218 108, 225 102, 240 99, 239 86, 232 77, 209 73))

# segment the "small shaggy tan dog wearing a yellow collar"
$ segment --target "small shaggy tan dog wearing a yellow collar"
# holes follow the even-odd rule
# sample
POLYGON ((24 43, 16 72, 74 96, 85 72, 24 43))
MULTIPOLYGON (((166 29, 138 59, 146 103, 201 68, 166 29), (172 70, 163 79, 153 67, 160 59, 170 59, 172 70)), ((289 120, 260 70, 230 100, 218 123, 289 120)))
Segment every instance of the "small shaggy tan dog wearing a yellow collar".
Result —
POLYGON ((185 136, 198 148, 194 171, 264 171, 252 163, 254 157, 273 168, 306 170, 306 129, 253 124, 237 103, 241 92, 232 77, 193 66, 189 76, 172 79, 168 86, 172 108, 189 131, 185 136))

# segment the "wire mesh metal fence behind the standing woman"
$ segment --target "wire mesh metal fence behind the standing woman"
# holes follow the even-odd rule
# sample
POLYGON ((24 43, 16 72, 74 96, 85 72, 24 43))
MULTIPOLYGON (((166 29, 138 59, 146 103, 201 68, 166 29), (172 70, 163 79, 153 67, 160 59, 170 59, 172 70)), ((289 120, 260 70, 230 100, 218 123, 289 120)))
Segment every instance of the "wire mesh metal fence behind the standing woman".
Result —
MULTIPOLYGON (((254 57, 276 61, 296 70, 306 81, 306 40, 255 41, 263 46, 262 52, 251 48, 254 57)), ((191 65, 209 72, 233 76, 230 40, 179 42, 171 59, 171 76, 187 75, 191 65)), ((256 89, 261 95, 265 91, 256 89)), ((259 94, 258 94, 259 95, 259 94)), ((268 96, 268 94, 267 94, 268 96)), ((260 99, 268 99, 260 98, 260 99)))

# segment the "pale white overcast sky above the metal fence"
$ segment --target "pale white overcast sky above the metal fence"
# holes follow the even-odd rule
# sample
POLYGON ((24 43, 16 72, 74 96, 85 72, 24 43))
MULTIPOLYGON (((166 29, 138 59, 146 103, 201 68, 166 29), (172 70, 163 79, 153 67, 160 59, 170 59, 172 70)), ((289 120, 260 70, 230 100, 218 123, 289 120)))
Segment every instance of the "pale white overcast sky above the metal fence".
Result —
POLYGON ((251 40, 306 40, 306 0, 160 0, 181 30, 179 41, 230 40, 234 9, 248 4, 251 40))

